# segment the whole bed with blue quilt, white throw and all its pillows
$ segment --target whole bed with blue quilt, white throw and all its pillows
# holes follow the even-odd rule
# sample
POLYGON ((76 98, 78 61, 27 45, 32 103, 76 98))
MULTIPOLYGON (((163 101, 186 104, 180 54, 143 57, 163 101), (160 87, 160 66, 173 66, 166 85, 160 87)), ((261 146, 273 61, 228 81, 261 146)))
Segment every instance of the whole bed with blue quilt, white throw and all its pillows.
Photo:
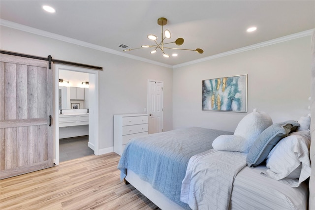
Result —
MULTIPOLYGON (((314 119, 315 63, 312 78, 314 119)), ((118 165, 121 180, 162 210, 315 209, 315 164, 311 171, 315 124, 311 117, 272 124, 267 120, 250 130, 244 129, 249 120, 241 120, 243 129, 238 126, 234 133, 191 127, 132 139, 118 165), (292 160, 294 152, 299 157, 292 160), (298 165, 293 167, 294 161, 298 165)))

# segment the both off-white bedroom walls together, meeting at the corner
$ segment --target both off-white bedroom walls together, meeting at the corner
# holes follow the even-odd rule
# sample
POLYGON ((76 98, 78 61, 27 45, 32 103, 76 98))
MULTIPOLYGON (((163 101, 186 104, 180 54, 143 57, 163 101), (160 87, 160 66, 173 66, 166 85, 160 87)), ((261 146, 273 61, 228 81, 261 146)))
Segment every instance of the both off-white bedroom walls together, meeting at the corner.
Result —
POLYGON ((147 62, 1 26, 1 50, 102 66, 99 73, 99 149, 113 147, 113 115, 144 113, 148 79, 164 81, 164 130, 200 126, 234 131, 246 113, 201 111, 201 82, 248 74, 248 113, 274 122, 310 111, 311 37, 306 36, 184 67, 147 62))

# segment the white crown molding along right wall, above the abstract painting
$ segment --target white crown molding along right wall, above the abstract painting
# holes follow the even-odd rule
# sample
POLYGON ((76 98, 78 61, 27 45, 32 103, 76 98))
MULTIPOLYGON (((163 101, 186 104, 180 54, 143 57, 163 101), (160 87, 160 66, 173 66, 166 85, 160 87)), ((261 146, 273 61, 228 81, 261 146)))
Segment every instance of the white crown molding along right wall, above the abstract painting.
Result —
POLYGON ((305 31, 302 31, 302 32, 293 33, 293 34, 290 34, 290 35, 287 35, 287 36, 283 36, 283 37, 272 39, 272 40, 265 41, 265 42, 260 42, 258 44, 253 44, 253 45, 250 45, 250 46, 247 46, 247 47, 238 48, 238 49, 235 49, 235 50, 227 51, 227 52, 224 52, 224 53, 216 54, 216 55, 205 57, 205 58, 202 58, 202 59, 191 60, 189 62, 181 63, 181 64, 178 64, 178 65, 173 65, 173 69, 174 68, 179 68, 179 67, 182 67, 182 66, 195 64, 195 63, 200 63, 200 62, 207 61, 207 60, 213 60, 213 59, 217 59, 217 58, 221 58, 221 57, 224 57, 224 56, 229 56, 229 55, 233 55, 233 54, 237 54, 237 53, 241 53, 241 52, 245 52, 245 51, 249 51, 249 50, 253 50, 253 49, 257 49, 257 48, 260 48, 260 47, 266 47, 268 45, 278 44, 278 43, 289 41, 289 40, 292 40, 292 39, 301 38, 301 37, 304 37, 304 36, 310 36, 310 35, 312 35, 313 31, 314 31, 313 29, 305 30, 305 31))

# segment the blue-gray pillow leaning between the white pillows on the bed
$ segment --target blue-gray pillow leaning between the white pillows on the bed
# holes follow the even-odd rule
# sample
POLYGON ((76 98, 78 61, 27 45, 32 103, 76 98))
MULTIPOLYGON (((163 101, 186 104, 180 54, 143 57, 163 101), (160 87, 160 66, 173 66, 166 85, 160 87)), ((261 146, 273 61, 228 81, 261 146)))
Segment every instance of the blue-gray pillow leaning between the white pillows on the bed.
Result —
POLYGON ((262 163, 273 147, 290 132, 297 129, 300 124, 294 120, 278 122, 270 125, 258 136, 247 155, 246 162, 249 167, 262 163))

